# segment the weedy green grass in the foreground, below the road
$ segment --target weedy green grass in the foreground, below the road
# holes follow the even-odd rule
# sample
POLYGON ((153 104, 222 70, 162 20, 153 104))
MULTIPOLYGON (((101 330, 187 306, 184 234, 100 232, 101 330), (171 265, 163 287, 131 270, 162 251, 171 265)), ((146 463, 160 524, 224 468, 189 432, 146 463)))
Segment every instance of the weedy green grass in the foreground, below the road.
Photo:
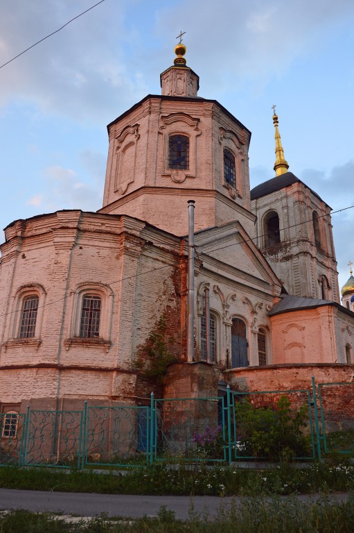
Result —
POLYGON ((110 521, 94 518, 88 523, 64 523, 51 514, 12 511, 0 517, 1 533, 352 533, 354 498, 348 502, 317 503, 273 498, 245 498, 240 505, 221 507, 214 517, 196 514, 180 521, 172 511, 161 507, 156 518, 110 521))

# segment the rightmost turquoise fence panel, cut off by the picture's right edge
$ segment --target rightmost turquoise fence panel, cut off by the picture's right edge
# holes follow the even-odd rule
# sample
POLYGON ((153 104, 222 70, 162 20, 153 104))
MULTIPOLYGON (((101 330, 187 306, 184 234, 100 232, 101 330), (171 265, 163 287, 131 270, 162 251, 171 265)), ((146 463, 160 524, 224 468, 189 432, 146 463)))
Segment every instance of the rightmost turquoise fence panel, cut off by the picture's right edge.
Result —
POLYGON ((354 382, 318 385, 324 453, 354 454, 354 382))

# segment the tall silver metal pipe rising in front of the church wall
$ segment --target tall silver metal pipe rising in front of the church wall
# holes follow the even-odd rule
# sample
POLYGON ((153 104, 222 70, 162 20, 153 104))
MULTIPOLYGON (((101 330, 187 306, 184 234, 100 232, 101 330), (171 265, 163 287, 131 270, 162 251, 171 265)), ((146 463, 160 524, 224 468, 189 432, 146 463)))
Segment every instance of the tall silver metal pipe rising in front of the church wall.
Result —
POLYGON ((187 361, 194 355, 194 200, 188 200, 187 361))

